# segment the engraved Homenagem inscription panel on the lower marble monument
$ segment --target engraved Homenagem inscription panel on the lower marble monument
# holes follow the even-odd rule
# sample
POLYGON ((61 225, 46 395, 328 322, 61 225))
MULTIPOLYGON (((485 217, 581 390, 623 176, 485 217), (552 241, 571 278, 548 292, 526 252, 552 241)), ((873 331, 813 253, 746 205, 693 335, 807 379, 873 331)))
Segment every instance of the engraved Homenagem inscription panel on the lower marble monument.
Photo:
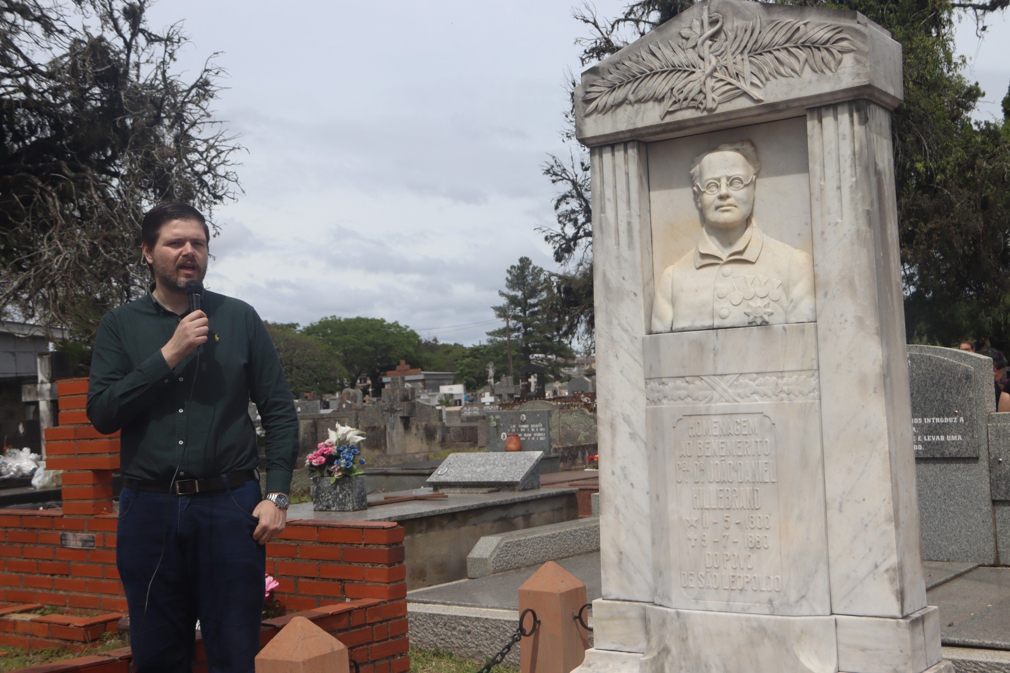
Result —
POLYGON ((685 416, 673 438, 681 589, 698 600, 777 600, 785 578, 772 419, 685 416))

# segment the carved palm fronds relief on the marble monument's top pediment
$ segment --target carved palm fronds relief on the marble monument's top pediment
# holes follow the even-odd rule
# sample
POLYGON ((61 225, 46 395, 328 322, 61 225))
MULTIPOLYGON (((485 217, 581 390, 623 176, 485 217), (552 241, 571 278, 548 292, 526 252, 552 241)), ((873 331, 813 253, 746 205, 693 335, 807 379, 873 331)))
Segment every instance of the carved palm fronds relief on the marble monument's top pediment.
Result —
POLYGON ((768 80, 837 71, 841 54, 853 51, 841 26, 761 19, 723 26, 722 15, 708 12, 681 30, 682 44, 659 41, 617 64, 586 89, 586 114, 624 103, 662 101, 663 117, 693 107, 711 112, 719 103, 746 94, 755 102, 768 80))

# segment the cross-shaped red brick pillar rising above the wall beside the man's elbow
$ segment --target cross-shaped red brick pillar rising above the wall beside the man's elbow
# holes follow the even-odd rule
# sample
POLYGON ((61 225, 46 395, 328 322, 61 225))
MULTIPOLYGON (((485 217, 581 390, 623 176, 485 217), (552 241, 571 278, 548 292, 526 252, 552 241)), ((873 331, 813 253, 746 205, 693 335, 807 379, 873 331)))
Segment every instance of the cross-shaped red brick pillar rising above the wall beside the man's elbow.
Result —
POLYGON ((119 433, 102 435, 84 411, 87 378, 57 382, 60 425, 45 429, 45 467, 64 470, 65 515, 112 512, 112 470, 119 469, 119 433))

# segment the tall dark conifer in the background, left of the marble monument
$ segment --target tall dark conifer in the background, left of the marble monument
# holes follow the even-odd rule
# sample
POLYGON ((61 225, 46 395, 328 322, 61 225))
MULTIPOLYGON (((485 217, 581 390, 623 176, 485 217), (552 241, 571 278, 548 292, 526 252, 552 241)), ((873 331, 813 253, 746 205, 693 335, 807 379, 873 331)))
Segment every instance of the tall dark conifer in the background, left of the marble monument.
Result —
POLYGON ((504 344, 506 349, 511 341, 513 369, 530 362, 534 355, 547 356, 548 362, 552 356, 571 356, 572 349, 548 320, 550 284, 546 271, 529 257, 519 257, 517 263, 508 267, 505 290, 499 290, 498 295, 505 303, 492 310, 498 318, 507 319, 508 326, 488 332, 488 337, 494 344, 504 344))

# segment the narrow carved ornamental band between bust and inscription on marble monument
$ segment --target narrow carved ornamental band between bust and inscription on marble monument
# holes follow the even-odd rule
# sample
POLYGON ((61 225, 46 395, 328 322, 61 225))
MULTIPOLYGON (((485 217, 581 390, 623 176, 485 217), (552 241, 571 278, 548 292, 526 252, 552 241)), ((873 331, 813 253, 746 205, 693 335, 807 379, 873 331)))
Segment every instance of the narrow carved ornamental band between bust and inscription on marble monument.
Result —
POLYGON ((814 370, 670 376, 645 381, 645 401, 652 407, 720 402, 816 401, 819 397, 820 386, 814 370))

